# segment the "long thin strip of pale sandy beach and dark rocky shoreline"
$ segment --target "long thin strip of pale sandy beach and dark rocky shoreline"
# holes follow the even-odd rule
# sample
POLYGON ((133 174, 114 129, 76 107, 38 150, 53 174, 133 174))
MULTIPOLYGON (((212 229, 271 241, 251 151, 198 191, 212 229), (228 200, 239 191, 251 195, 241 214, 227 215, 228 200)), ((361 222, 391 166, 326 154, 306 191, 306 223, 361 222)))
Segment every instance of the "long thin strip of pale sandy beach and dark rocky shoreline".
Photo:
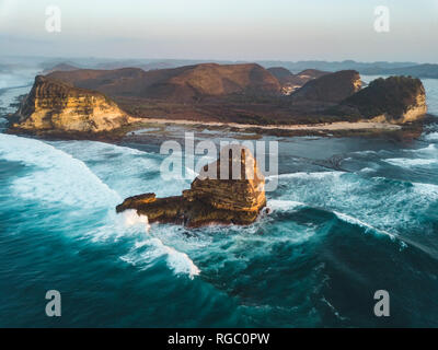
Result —
MULTIPOLYGON (((427 119, 427 118, 426 118, 427 119)), ((27 135, 48 140, 95 140, 102 142, 116 143, 123 139, 142 138, 151 133, 161 135, 165 132, 166 126, 178 126, 194 131, 204 129, 241 132, 242 137, 245 133, 256 133, 258 137, 263 135, 275 137, 376 137, 387 136, 396 139, 413 139, 417 138, 422 131, 426 120, 406 125, 394 125, 377 121, 336 121, 331 124, 308 124, 308 125, 251 125, 238 122, 221 122, 221 121, 195 121, 186 119, 165 119, 165 118, 145 118, 141 121, 136 121, 123 128, 103 132, 74 132, 60 130, 30 130, 21 128, 5 128, 3 132, 12 135, 27 135), (160 130, 151 130, 141 132, 142 129, 159 128, 160 130)))

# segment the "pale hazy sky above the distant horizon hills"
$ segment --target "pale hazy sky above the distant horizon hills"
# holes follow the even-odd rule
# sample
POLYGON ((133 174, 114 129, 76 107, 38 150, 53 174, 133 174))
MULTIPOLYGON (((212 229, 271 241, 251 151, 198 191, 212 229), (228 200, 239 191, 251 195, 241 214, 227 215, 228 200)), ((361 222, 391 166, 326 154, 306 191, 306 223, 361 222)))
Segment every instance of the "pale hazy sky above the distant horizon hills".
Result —
POLYGON ((438 0, 0 0, 0 55, 438 62, 438 0))

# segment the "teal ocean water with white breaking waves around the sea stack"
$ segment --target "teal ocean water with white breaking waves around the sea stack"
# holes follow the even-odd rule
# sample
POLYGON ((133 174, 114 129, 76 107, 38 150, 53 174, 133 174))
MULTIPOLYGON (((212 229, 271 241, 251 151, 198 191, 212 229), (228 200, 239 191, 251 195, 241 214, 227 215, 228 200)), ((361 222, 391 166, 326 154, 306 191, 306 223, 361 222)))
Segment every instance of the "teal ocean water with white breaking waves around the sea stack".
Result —
MULTIPOLYGON (((33 77, 2 79, 4 115, 33 77)), ((423 82, 438 116, 438 80, 423 82)), ((186 129, 149 131, 118 144, 0 133, 0 327, 438 327, 438 122, 413 141, 265 136, 279 141, 273 212, 197 230, 115 213, 189 187, 159 172, 160 142, 186 129), (61 317, 46 316, 48 290, 61 317)), ((196 133, 223 137, 241 135, 196 133)))

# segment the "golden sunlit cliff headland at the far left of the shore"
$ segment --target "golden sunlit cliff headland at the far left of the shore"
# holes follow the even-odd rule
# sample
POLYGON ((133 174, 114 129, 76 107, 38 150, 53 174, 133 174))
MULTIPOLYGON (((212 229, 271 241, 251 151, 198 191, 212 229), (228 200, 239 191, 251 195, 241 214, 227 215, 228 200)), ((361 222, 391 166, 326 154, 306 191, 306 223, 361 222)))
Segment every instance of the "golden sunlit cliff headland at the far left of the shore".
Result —
POLYGON ((12 118, 11 129, 95 133, 136 121, 105 95, 42 75, 12 118))

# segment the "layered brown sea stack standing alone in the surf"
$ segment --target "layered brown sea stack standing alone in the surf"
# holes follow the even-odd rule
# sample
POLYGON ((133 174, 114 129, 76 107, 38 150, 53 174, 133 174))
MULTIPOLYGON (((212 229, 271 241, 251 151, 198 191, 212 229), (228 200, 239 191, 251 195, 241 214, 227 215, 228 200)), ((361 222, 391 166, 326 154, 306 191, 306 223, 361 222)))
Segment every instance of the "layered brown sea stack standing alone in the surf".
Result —
POLYGON ((265 178, 250 150, 223 148, 218 161, 206 165, 182 196, 155 198, 154 194, 127 198, 116 210, 137 210, 149 222, 197 228, 211 223, 250 224, 266 206, 265 178))

